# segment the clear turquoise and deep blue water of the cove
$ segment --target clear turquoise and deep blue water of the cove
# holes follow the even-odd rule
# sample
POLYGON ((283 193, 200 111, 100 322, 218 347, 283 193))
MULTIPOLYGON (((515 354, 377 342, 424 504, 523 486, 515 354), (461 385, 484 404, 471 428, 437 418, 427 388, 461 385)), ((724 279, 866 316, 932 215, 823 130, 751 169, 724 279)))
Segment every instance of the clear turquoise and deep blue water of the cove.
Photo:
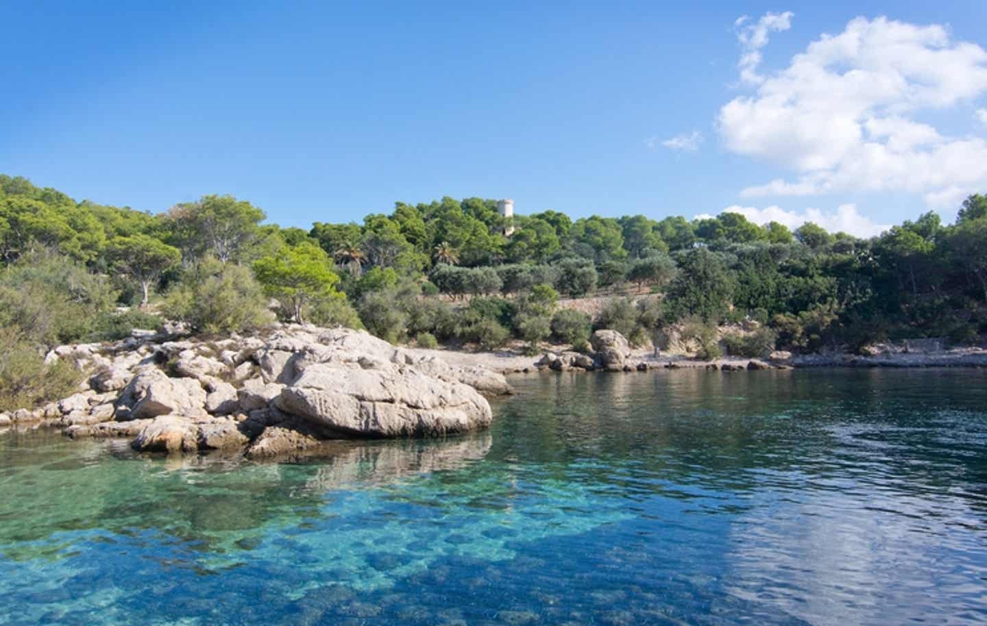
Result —
POLYGON ((0 435, 0 624, 987 622, 987 373, 531 376, 261 464, 0 435))

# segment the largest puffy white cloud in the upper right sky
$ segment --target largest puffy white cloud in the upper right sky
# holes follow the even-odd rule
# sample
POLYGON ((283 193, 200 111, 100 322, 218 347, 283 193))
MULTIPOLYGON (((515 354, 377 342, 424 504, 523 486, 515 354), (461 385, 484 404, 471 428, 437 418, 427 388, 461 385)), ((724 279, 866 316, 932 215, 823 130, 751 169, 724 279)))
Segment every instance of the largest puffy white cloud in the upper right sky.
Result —
POLYGON ((748 33, 741 79, 756 91, 721 107, 725 146, 795 173, 749 186, 744 197, 893 190, 947 208, 987 186, 987 141, 944 136, 915 119, 987 92, 987 51, 953 40, 943 26, 857 18, 812 41, 785 69, 748 80, 760 62, 758 55, 751 64, 751 50, 790 19, 768 14, 757 23, 767 20, 763 28, 738 26, 748 33))

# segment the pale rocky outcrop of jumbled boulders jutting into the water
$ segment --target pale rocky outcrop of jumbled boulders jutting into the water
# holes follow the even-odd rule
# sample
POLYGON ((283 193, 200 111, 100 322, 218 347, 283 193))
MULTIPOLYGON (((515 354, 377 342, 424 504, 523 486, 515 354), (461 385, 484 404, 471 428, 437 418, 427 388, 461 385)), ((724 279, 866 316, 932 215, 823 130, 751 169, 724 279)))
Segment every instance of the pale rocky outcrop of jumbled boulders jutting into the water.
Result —
POLYGON ((330 440, 484 429, 493 413, 483 393, 511 392, 501 374, 344 328, 281 325, 217 341, 141 337, 53 350, 49 361, 71 359, 92 372, 85 388, 34 411, 0 413, 0 427, 127 438, 141 452, 276 458, 330 440))

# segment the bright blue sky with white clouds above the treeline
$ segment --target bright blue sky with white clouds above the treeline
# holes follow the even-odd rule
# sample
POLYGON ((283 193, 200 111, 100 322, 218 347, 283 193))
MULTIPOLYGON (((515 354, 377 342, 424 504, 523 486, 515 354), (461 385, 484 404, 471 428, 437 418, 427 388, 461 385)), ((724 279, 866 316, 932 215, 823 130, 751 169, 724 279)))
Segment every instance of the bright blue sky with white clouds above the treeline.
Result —
POLYGON ((868 234, 987 190, 983 2, 202 4, 0 2, 0 173, 303 227, 479 195, 868 234))

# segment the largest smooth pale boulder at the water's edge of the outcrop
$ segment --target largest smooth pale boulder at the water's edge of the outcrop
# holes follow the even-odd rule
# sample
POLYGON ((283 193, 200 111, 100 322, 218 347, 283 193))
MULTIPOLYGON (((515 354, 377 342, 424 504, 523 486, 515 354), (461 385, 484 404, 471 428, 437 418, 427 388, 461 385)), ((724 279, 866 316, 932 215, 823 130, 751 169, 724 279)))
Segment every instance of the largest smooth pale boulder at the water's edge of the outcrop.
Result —
POLYGON ((390 363, 310 366, 274 404, 343 437, 437 437, 486 428, 492 419, 490 404, 473 387, 390 363))

